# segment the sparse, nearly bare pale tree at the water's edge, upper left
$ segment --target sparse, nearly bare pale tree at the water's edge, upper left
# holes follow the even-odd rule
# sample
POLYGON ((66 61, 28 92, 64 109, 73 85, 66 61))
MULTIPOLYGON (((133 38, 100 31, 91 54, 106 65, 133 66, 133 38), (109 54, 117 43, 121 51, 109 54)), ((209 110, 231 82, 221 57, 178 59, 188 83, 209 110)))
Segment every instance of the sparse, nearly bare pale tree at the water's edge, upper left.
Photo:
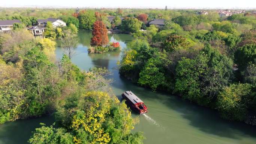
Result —
POLYGON ((61 47, 65 49, 69 59, 71 59, 74 55, 74 48, 76 48, 78 40, 76 35, 73 34, 71 30, 64 30, 63 33, 64 35, 60 39, 61 47))

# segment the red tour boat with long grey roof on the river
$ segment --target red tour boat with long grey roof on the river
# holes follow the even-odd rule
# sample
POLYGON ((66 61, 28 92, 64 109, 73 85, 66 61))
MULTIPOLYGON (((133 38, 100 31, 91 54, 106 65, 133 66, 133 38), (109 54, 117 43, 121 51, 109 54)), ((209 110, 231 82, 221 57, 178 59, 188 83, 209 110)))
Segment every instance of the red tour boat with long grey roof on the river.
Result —
POLYGON ((144 105, 144 102, 141 101, 138 96, 133 94, 131 91, 126 91, 122 94, 122 97, 126 99, 127 104, 130 108, 137 111, 139 114, 147 113, 147 107, 144 105))

